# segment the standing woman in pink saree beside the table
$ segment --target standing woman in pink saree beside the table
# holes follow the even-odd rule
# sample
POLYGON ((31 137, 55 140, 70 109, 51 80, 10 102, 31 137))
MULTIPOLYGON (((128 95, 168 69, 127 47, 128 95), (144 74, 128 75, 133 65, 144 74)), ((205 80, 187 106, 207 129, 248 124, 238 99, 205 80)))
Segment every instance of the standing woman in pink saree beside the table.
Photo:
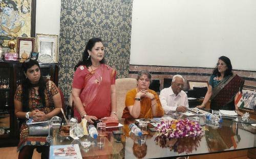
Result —
POLYGON ((72 97, 74 116, 88 122, 116 115, 116 70, 105 64, 104 46, 99 38, 88 41, 82 61, 75 66, 72 97))

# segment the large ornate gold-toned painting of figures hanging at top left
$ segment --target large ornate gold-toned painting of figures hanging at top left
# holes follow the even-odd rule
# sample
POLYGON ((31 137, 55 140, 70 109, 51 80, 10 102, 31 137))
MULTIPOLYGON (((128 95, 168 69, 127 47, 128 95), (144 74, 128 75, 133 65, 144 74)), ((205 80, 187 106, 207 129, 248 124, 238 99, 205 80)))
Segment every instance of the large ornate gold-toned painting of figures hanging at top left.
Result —
POLYGON ((8 41, 16 37, 35 37, 36 0, 6 0, 0 1, 0 5, 3 47, 8 48, 8 41))

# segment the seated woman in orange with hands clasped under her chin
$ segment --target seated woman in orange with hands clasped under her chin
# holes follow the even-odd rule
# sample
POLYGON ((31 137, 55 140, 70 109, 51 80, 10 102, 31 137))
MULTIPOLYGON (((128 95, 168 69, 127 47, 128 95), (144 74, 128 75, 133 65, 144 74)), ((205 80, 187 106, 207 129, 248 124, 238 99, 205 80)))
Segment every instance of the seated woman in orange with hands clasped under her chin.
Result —
POLYGON ((163 109, 157 93, 148 89, 151 74, 141 71, 137 77, 137 88, 127 92, 122 118, 162 117, 163 109))

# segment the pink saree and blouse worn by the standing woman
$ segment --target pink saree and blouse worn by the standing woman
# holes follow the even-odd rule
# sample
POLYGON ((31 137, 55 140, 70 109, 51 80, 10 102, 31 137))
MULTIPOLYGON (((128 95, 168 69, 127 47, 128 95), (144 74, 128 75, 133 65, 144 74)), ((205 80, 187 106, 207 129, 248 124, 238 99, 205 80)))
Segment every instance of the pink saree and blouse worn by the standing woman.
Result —
MULTIPOLYGON (((116 70, 100 64, 96 70, 89 71, 79 66, 74 74, 73 88, 81 89, 80 99, 88 115, 98 119, 109 117, 111 113, 111 85, 115 85, 116 70)), ((81 120, 75 109, 74 116, 81 120)))

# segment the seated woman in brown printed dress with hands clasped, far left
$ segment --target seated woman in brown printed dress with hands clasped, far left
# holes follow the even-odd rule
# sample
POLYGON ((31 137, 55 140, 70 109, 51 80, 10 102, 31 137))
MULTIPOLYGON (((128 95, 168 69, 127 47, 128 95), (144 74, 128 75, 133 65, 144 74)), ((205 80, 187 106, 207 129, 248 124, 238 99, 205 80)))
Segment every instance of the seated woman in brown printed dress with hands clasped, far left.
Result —
POLYGON ((46 121, 60 113, 61 97, 52 81, 46 82, 36 60, 28 59, 22 64, 22 83, 14 95, 15 115, 22 122, 18 158, 32 158, 34 148, 41 158, 49 158, 49 142, 46 136, 29 136, 26 120, 46 121))

